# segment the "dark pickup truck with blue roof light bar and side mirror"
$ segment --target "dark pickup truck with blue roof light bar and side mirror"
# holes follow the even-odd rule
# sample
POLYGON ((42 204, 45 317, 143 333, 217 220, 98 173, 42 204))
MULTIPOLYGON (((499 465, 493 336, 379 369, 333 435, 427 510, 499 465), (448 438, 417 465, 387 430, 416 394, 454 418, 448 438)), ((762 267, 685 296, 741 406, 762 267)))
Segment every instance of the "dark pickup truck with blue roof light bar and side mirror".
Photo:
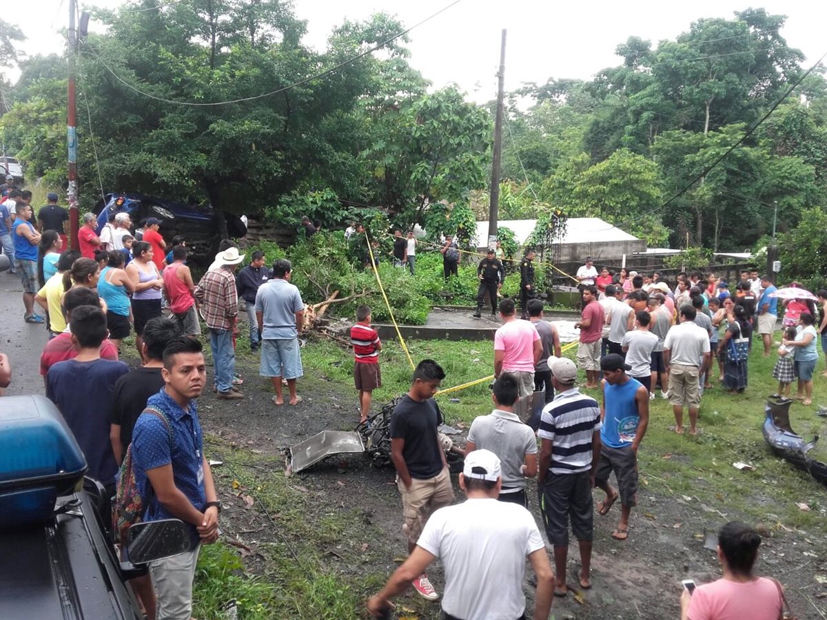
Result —
POLYGON ((152 560, 186 551, 177 519, 129 531, 118 560, 103 514, 103 487, 55 405, 43 396, 2 398, 0 407, 0 618, 141 620, 125 583, 152 560))

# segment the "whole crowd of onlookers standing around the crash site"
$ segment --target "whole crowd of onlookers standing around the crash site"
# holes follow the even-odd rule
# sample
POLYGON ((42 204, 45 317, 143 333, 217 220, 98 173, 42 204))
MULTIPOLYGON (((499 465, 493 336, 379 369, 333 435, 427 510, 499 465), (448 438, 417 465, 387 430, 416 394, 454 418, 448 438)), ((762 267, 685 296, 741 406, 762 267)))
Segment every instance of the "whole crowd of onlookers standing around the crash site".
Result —
MULTIPOLYGON (((31 225, 31 207, 24 205, 17 207, 18 223, 9 229, 21 237, 15 238, 14 250, 23 250, 13 265, 24 282, 24 318, 37 322, 31 320, 39 316, 36 302, 49 330, 41 354, 46 394, 78 439, 88 475, 103 484, 107 497, 116 495, 118 479, 128 467, 148 500, 145 520, 176 517, 189 525, 189 551, 154 562, 150 575, 132 583, 148 618, 189 618, 198 551, 218 539, 222 508, 198 422, 197 398, 207 383, 197 337, 201 322, 208 332, 217 398, 244 398, 235 371, 238 317, 244 310, 251 351, 260 356, 259 372, 272 381, 272 402, 299 404, 305 307, 299 289, 290 283, 292 265, 280 259, 267 269, 264 255, 253 252, 249 264, 239 269, 246 256, 225 241, 196 283, 186 264, 185 240, 173 240, 168 247, 158 221, 148 220, 142 239, 136 240, 128 217, 113 217, 98 235, 97 220, 84 216, 88 232, 79 235, 83 241, 76 252, 63 250, 60 231, 31 225), (118 348, 132 330, 141 367, 130 370, 118 360, 118 348), (79 384, 96 386, 96 408, 88 408, 79 384)), ((65 222, 60 214, 54 221, 65 222)), ((307 236, 315 234, 312 222, 303 224, 307 236)), ((406 239, 395 231, 394 237, 394 259, 414 274, 413 233, 406 239), (397 248, 404 248, 404 254, 397 248)), ((456 250, 447 237, 440 249, 446 278, 456 273, 456 250)), ((577 274, 583 307, 576 326, 576 363, 562 356, 557 330, 543 320, 543 302, 533 290, 533 252, 520 261, 522 317, 514 299, 498 298, 504 270, 495 250, 480 261, 477 274, 476 314, 487 296, 502 325, 493 346, 492 411, 471 424, 459 476, 466 501, 455 504, 437 430, 443 417, 433 397, 445 372, 436 361, 423 360, 390 418, 390 456, 409 557, 368 601, 376 617, 386 614, 390 599, 411 584, 425 599, 439 599, 427 574, 428 565, 439 559, 445 570, 441 605, 446 618, 525 618, 528 559, 536 579, 534 618, 547 618, 554 597, 566 597, 571 589, 566 575, 570 528, 581 560, 576 588, 592 588, 595 511, 605 516, 619 502, 611 537, 628 539, 638 502, 638 450, 651 400, 658 392, 669 400, 678 433, 688 409, 689 432, 695 434, 700 398, 711 385, 715 360, 724 387, 737 394, 748 385, 754 333, 762 335, 764 355, 772 352, 779 308, 772 282, 757 273, 742 274, 734 293, 728 293, 723 280, 697 273, 679 275, 672 289, 660 274, 621 273, 615 278, 588 260, 577 274), (585 372, 586 389, 599 390, 597 398, 577 386, 578 369, 585 372), (525 406, 534 393, 543 398, 536 412, 525 406), (610 483, 612 473, 616 488, 610 483), (553 569, 538 523, 527 509, 533 503, 527 483, 534 478, 553 569), (602 492, 596 507, 595 488, 602 492)), ((827 291, 818 294, 827 308, 827 291)), ((785 322, 795 318, 796 324, 785 332, 774 373, 780 394, 788 393, 797 379, 797 395, 809 404, 818 359, 813 353, 820 332, 825 343, 827 318, 821 317, 817 331, 815 308, 795 303, 786 303, 785 322)), ((351 344, 360 420, 366 422, 372 392, 381 385, 382 349, 367 306, 356 310, 351 344)), ((0 355, 0 385, 7 382, 8 367, 0 355)), ((719 536, 724 576, 698 587, 692 596, 684 594, 682 617, 778 618, 783 589, 752 572, 759 545, 758 534, 742 523, 725 526, 719 536)))

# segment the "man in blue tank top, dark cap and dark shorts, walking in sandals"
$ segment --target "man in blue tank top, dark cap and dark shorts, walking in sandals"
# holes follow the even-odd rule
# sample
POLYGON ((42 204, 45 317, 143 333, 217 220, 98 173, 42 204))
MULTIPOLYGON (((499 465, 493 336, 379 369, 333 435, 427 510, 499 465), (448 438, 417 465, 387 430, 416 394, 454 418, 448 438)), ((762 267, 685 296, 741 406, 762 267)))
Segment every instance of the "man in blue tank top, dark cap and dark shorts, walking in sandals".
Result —
POLYGON ((605 491, 606 497, 597 507, 600 515, 609 512, 620 498, 620 522, 612 538, 625 541, 629 537, 629 514, 638 503, 638 446, 649 425, 649 392, 627 370, 623 357, 616 353, 600 360, 603 371, 603 403, 600 406, 600 462, 595 472, 595 485, 605 491), (609 484, 614 471, 618 490, 609 484))

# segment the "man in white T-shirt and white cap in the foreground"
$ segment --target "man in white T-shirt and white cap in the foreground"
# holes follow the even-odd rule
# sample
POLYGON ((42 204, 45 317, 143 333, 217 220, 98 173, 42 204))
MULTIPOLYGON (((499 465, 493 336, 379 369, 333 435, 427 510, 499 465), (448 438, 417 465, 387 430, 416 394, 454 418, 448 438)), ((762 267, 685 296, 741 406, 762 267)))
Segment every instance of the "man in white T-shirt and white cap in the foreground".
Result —
POLYGON ((527 618, 523 579, 528 556, 537 575, 533 618, 546 620, 554 575, 543 539, 528 510, 497 501, 501 484, 500 459, 493 452, 467 455, 460 474, 466 501, 433 513, 408 560, 368 600, 370 614, 379 618, 389 613, 390 599, 438 558, 445 569, 446 620, 527 618))

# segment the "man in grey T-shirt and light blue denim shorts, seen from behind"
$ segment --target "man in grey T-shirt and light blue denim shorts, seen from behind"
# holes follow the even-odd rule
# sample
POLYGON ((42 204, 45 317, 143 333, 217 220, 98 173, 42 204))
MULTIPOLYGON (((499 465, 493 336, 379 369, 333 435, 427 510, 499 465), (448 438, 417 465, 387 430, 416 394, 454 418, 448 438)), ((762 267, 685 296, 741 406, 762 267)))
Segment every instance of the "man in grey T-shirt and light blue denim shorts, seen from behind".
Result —
POLYGON ((304 322, 304 302, 299 289, 290 284, 292 266, 286 259, 273 264, 272 279, 261 284, 256 293, 256 319, 261 333, 261 363, 259 374, 270 377, 275 389, 273 403, 284 404, 281 378, 287 379, 289 403, 297 405, 302 397, 296 395, 296 379, 304 370, 299 350, 299 332, 304 322))

